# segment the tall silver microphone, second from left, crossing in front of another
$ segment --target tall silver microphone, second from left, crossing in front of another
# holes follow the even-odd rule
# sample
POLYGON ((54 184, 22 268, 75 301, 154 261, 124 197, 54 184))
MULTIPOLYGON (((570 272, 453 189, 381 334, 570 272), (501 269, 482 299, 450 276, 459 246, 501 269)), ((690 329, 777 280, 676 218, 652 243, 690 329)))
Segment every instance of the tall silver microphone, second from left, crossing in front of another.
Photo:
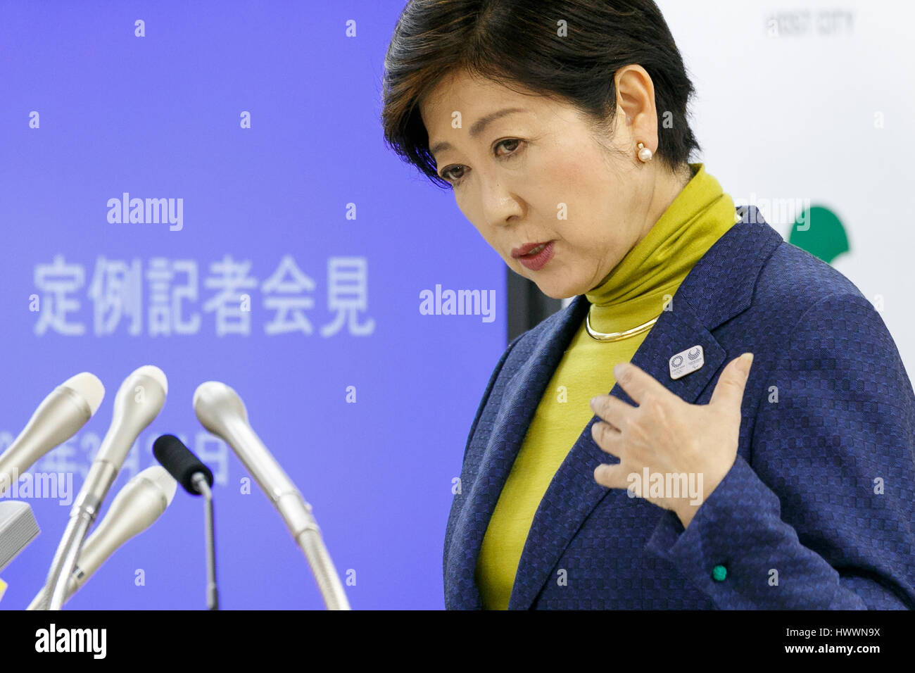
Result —
POLYGON ((86 481, 73 502, 70 521, 48 571, 45 587, 51 594, 50 610, 59 610, 63 606, 67 596, 67 582, 76 565, 86 532, 98 515, 99 507, 120 472, 131 446, 165 404, 167 388, 166 374, 152 364, 136 369, 118 388, 117 395, 114 396, 112 424, 105 433, 86 481))

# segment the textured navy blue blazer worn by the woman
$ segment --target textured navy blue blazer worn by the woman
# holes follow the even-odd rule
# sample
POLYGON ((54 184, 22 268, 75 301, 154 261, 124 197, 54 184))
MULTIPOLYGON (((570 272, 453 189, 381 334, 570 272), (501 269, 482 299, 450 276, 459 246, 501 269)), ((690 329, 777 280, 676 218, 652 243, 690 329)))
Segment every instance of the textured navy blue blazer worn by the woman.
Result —
MULTIPOLYGON (((594 481, 598 463, 619 459, 597 447, 591 418, 536 510, 509 609, 915 606, 915 394, 896 344, 850 280, 756 207, 737 212, 631 360, 706 404, 725 365, 754 353, 733 467, 684 530, 673 512, 594 481), (696 344, 705 364, 673 380, 669 359, 696 344)), ((481 607, 480 543, 588 306, 576 297, 496 364, 448 516, 447 609, 481 607)), ((619 385, 610 395, 635 404, 619 385)))

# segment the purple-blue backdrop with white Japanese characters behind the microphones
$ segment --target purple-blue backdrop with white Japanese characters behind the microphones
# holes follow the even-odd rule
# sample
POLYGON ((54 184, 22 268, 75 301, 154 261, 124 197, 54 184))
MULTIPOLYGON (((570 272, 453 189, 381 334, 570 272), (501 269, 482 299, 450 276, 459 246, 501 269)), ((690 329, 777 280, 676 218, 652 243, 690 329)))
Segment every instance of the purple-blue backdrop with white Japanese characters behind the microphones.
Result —
MULTIPOLYGON (((354 609, 443 605, 451 480, 506 342, 505 266, 382 143, 402 7, 0 6, 0 450, 56 385, 97 374, 97 415, 32 470, 63 475, 61 491, 70 474, 72 499, 118 385, 161 367, 166 405, 102 516, 154 463, 153 440, 181 436, 217 473, 227 609, 323 602, 283 521, 256 485, 242 494, 242 463, 195 418, 211 379, 239 392, 313 505, 354 609), (117 223, 125 192, 143 200, 134 220, 160 221, 131 222, 128 203, 117 223), (494 320, 423 315, 436 285, 494 291, 494 320)), ((70 511, 57 495, 19 498, 42 532, 3 572, 0 609, 43 583, 70 511)), ((68 607, 205 608, 202 532, 200 501, 179 490, 68 607)))

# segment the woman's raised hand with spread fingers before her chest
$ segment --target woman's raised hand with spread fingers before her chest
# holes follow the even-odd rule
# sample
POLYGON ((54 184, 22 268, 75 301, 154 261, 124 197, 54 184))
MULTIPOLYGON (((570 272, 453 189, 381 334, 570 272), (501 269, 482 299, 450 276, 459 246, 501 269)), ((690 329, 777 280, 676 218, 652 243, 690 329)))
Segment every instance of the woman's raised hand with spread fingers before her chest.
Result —
POLYGON ((727 364, 705 405, 684 402, 635 364, 618 364, 613 370, 617 383, 639 406, 611 395, 591 400, 591 408, 601 418, 591 427, 591 435, 601 450, 619 458, 617 464, 598 465, 595 481, 608 488, 627 488, 672 510, 684 528, 689 526, 737 460, 740 405, 752 355, 745 360, 746 372, 738 361, 739 357, 727 364), (646 469, 649 483, 644 480, 646 469), (650 488, 657 473, 662 487, 650 488), (683 486, 679 494, 664 487, 673 484, 668 475, 686 475, 685 483, 673 476, 683 486))

